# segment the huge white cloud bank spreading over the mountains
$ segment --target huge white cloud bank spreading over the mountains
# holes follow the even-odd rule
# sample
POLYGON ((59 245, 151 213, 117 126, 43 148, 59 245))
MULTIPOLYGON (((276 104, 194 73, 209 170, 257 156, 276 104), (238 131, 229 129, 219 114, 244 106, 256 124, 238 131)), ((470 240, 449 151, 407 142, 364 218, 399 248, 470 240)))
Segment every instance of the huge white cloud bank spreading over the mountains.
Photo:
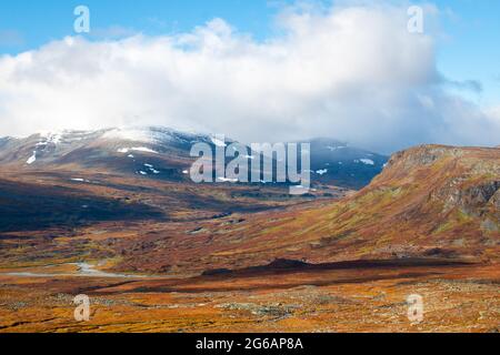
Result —
POLYGON ((0 59, 0 135, 158 124, 386 152, 498 144, 500 118, 447 93, 433 33, 411 34, 407 21, 406 8, 371 4, 283 12, 266 42, 221 19, 176 37, 67 38, 0 59))

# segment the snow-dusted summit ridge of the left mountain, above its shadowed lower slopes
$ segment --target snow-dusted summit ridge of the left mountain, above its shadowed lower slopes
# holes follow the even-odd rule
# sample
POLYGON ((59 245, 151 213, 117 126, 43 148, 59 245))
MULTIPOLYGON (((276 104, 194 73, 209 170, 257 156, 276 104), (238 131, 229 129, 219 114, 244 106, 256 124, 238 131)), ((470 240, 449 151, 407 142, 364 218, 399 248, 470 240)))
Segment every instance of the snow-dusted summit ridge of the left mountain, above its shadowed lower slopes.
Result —
POLYGON ((0 164, 40 169, 94 169, 182 180, 194 142, 207 135, 164 128, 62 131, 9 139, 0 145, 0 164))

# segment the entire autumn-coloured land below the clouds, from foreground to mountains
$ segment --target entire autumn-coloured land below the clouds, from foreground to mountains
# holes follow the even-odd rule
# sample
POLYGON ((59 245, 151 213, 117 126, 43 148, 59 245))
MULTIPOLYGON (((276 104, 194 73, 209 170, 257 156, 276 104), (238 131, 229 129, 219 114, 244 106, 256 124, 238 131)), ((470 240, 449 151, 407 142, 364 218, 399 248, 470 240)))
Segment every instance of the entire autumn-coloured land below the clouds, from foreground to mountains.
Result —
MULTIPOLYGON (((384 168, 362 189, 318 174, 291 196, 194 184, 172 132, 121 133, 50 139, 30 164, 39 138, 2 143, 0 332, 499 331, 500 149, 373 155, 362 165, 384 168), (89 322, 73 318, 79 294, 89 322), (423 322, 408 318, 410 295, 423 322)), ((313 169, 371 156, 327 150, 342 151, 313 169)))

